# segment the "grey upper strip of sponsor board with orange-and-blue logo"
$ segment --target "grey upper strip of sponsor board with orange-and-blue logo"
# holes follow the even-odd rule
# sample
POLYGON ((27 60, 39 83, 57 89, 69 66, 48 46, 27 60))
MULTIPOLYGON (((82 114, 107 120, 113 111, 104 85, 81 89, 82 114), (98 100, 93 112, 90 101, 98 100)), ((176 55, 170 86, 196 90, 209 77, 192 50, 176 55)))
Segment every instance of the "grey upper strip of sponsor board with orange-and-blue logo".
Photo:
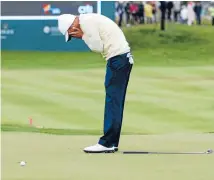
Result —
POLYGON ((1 16, 58 16, 60 14, 97 13, 97 4, 98 1, 2 1, 1 16))

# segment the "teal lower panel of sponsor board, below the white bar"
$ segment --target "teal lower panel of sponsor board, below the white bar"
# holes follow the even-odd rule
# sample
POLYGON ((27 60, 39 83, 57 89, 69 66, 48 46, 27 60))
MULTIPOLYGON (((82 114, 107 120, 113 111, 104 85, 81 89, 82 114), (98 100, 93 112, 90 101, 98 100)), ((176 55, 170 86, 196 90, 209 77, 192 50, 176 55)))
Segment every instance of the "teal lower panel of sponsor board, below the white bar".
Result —
POLYGON ((3 50, 87 51, 84 41, 73 38, 66 43, 59 33, 56 20, 3 20, 3 50))

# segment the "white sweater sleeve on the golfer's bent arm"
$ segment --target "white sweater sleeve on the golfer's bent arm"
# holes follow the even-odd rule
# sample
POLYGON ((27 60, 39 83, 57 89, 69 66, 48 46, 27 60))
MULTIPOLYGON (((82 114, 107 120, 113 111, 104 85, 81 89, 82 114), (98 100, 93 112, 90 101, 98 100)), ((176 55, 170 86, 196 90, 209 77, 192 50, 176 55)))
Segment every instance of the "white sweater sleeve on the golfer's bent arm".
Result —
POLYGON ((95 52, 102 53, 103 52, 103 42, 99 36, 99 32, 91 31, 90 34, 84 34, 82 39, 88 45, 88 47, 95 52))

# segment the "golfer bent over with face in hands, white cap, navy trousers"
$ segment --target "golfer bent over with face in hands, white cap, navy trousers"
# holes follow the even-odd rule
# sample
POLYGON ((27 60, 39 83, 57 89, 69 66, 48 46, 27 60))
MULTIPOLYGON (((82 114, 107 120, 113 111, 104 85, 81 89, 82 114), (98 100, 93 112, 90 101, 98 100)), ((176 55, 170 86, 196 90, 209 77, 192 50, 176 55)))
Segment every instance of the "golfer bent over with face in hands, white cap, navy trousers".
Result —
POLYGON ((133 66, 130 47, 122 30, 111 19, 100 14, 63 14, 58 17, 59 31, 68 42, 82 39, 93 52, 106 60, 104 134, 97 144, 84 152, 102 153, 118 150, 123 109, 129 76, 133 66))

